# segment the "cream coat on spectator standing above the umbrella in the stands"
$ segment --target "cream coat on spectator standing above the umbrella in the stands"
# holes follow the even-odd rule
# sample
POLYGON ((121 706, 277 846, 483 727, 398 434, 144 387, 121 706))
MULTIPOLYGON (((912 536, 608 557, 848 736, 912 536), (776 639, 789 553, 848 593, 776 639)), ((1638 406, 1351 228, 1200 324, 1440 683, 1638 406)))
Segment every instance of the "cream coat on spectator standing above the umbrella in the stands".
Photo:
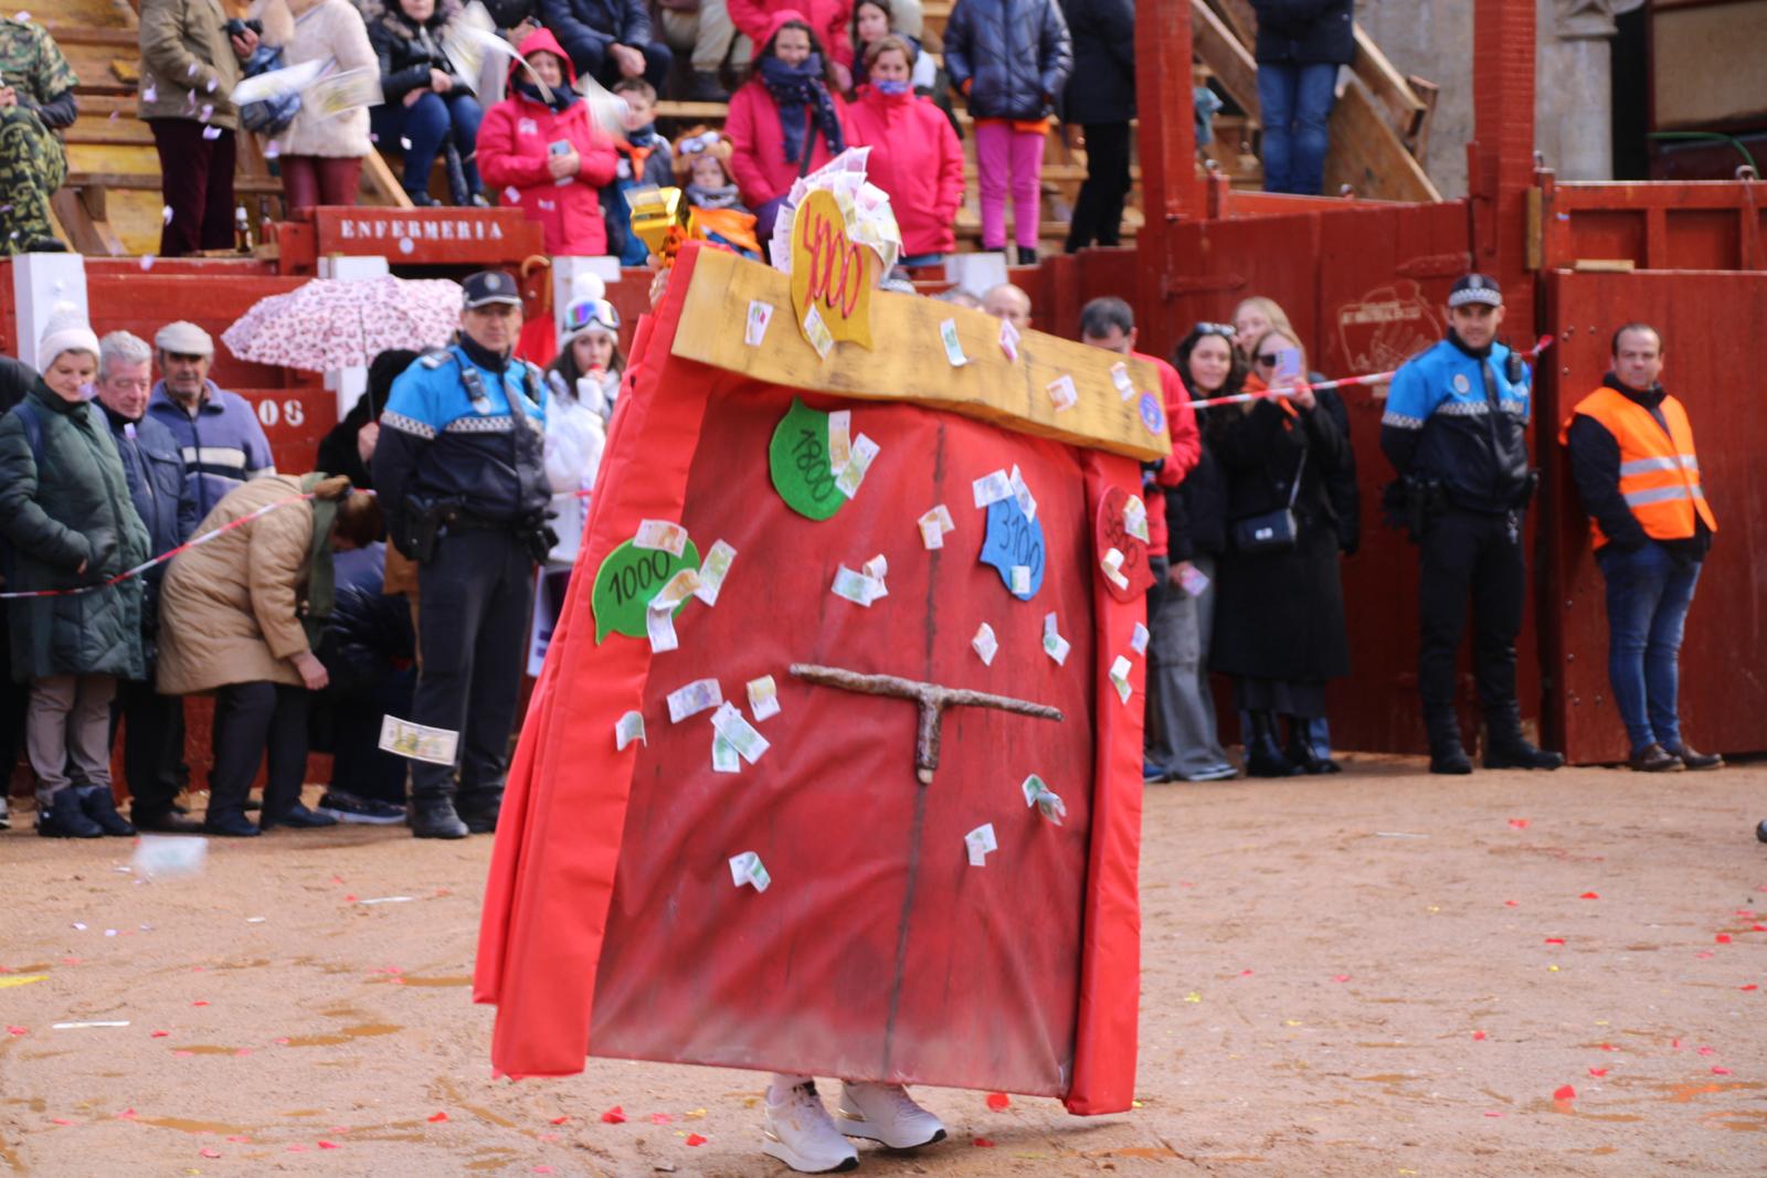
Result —
MULTIPOLYGON (((368 25, 350 0, 254 0, 251 16, 263 21, 263 42, 281 46, 283 65, 330 62, 327 76, 369 69, 380 79, 380 58, 368 42, 368 25)), ((368 108, 318 118, 302 101, 295 122, 276 141, 283 155, 368 155, 368 108)))

